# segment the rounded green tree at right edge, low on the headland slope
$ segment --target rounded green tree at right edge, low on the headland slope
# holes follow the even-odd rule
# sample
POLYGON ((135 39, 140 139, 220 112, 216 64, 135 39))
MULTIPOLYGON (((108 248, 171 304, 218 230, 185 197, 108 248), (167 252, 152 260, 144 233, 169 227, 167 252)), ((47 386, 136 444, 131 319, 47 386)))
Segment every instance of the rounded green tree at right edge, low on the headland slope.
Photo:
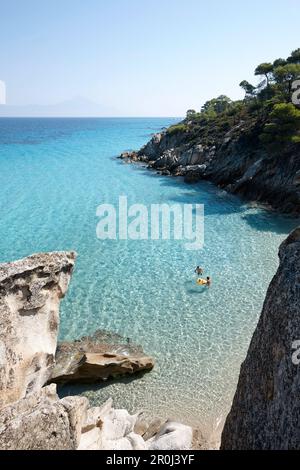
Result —
POLYGON ((300 142, 300 110, 292 103, 276 104, 260 139, 271 149, 289 142, 300 142))

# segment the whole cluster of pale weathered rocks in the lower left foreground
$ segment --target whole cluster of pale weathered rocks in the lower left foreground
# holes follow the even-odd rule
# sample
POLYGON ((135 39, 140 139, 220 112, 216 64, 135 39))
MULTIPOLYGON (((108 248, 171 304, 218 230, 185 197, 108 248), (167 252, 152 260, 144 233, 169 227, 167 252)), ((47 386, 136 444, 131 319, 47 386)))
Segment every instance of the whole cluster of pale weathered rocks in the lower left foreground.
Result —
POLYGON ((149 371, 153 359, 100 332, 57 348, 59 304, 75 253, 37 254, 0 265, 0 450, 188 450, 193 430, 146 422, 87 398, 60 399, 56 382, 96 382, 149 371))

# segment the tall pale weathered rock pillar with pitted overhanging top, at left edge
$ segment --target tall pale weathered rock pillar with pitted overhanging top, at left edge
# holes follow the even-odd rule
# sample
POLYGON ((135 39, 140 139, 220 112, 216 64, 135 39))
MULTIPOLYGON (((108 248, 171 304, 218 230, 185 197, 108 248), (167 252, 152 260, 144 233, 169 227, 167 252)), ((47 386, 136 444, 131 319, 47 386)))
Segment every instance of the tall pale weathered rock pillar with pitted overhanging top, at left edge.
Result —
POLYGON ((45 253, 0 265, 0 409, 49 378, 74 261, 75 253, 45 253))

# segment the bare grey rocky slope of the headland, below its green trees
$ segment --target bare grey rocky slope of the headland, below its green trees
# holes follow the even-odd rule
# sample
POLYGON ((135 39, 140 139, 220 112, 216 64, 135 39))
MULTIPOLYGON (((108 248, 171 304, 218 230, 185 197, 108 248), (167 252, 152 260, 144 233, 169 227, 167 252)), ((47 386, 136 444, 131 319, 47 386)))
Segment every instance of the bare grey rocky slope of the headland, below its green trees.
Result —
POLYGON ((286 145, 270 156, 259 142, 256 126, 241 121, 221 135, 212 129, 207 140, 201 137, 203 129, 185 123, 184 130, 170 128, 139 152, 121 158, 146 162, 190 183, 206 179, 248 200, 300 215, 300 145, 286 145))

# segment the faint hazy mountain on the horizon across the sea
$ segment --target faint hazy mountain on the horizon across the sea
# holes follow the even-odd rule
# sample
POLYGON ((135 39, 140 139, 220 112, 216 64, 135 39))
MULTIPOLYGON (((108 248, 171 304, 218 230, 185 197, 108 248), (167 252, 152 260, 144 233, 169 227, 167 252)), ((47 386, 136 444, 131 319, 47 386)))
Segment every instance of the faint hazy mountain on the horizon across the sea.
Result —
POLYGON ((116 114, 113 108, 82 97, 53 105, 0 105, 0 117, 101 117, 116 114))

